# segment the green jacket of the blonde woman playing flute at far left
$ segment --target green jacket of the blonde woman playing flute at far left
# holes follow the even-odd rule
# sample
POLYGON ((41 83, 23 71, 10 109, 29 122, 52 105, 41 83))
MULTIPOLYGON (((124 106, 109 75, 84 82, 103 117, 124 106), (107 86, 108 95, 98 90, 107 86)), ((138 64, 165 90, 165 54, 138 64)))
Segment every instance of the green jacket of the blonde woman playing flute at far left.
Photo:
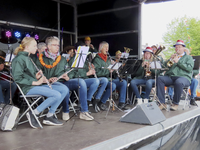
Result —
POLYGON ((28 52, 19 52, 12 60, 12 76, 24 94, 34 87, 32 82, 37 81, 36 73, 37 70, 28 57, 28 52))

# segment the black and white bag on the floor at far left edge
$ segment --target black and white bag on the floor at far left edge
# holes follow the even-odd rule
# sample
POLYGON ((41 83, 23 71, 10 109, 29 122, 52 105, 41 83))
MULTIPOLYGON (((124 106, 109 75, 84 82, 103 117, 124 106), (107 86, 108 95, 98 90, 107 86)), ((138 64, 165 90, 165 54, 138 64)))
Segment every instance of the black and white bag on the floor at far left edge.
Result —
POLYGON ((0 104, 0 129, 13 131, 19 120, 19 108, 10 104, 0 104))

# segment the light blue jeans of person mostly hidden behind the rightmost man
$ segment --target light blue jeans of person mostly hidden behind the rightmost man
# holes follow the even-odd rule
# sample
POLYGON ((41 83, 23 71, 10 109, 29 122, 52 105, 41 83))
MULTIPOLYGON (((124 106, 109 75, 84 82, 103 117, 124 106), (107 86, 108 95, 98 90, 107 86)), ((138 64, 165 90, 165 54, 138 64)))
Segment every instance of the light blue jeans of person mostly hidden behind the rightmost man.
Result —
MULTIPOLYGON (((197 85, 198 85, 198 80, 195 78, 192 78, 191 84, 190 84, 191 98, 195 98, 197 96, 196 95, 197 85)), ((173 92, 174 92, 174 89, 172 87, 169 87, 168 94, 171 99, 173 99, 173 92)))

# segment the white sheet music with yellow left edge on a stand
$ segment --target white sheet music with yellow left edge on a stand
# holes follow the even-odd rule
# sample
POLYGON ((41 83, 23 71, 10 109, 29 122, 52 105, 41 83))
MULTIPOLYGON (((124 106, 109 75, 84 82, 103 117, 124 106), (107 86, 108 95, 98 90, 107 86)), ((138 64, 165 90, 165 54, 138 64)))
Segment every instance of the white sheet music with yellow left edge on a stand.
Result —
POLYGON ((87 58, 88 51, 89 47, 79 46, 74 61, 72 63, 72 67, 83 68, 85 60, 87 58))

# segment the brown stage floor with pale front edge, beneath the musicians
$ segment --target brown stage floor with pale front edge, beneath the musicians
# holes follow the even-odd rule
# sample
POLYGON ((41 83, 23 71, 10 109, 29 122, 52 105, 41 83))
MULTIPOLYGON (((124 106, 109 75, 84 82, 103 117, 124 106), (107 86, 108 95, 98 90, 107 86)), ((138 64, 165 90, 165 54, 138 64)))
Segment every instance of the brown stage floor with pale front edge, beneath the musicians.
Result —
MULTIPOLYGON (((197 103, 200 106, 200 102, 197 103)), ((200 107, 192 106, 185 110, 182 110, 182 107, 180 105, 178 111, 162 111, 167 118, 162 122, 166 128, 200 114, 200 107)), ((114 145, 120 147, 128 144, 123 141, 126 138, 138 141, 152 134, 143 135, 142 132, 153 132, 154 127, 155 130, 160 130, 157 129, 160 128, 158 124, 151 126, 120 122, 123 114, 125 113, 119 110, 110 111, 105 118, 106 112, 92 113, 97 122, 80 120, 74 116, 63 126, 43 125, 43 129, 33 129, 29 123, 25 123, 13 132, 0 131, 0 150, 115 149, 114 145)), ((73 112, 70 115, 73 115, 73 112)), ((61 118, 60 114, 58 118, 61 118)))

